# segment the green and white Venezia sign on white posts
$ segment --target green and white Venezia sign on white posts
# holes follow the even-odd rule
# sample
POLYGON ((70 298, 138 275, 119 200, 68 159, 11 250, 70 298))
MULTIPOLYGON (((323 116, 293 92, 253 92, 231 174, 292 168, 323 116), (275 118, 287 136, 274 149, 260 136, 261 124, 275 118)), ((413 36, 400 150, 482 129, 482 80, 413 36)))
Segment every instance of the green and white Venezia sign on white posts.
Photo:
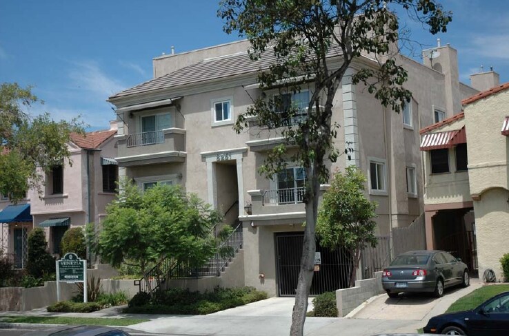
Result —
POLYGON ((60 282, 74 284, 83 282, 83 302, 87 302, 87 261, 79 259, 76 253, 66 253, 57 260, 57 300, 60 301, 60 282))

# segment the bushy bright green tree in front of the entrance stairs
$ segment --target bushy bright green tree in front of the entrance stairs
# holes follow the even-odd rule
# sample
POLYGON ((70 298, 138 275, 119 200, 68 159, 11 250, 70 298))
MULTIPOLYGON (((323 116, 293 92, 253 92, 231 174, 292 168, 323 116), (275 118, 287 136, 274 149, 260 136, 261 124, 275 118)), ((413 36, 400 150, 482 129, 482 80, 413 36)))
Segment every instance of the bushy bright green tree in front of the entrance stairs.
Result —
POLYGON ((148 265, 165 258, 193 268, 216 253, 210 230, 221 218, 196 195, 168 185, 141 193, 131 182, 123 182, 120 189, 106 209, 99 235, 97 252, 103 260, 113 266, 139 266, 146 277, 148 265))

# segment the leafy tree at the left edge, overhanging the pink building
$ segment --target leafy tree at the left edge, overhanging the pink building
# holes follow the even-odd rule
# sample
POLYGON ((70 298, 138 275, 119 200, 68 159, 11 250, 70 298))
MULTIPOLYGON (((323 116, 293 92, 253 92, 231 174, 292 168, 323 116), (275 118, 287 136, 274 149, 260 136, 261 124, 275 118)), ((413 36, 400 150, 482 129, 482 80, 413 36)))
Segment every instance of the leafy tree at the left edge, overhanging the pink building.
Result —
POLYGON ((70 162, 71 132, 83 134, 77 119, 56 122, 48 113, 32 117, 23 111, 34 103, 43 102, 32 87, 0 85, 0 192, 14 203, 30 188, 41 195, 44 174, 64 160, 70 162))

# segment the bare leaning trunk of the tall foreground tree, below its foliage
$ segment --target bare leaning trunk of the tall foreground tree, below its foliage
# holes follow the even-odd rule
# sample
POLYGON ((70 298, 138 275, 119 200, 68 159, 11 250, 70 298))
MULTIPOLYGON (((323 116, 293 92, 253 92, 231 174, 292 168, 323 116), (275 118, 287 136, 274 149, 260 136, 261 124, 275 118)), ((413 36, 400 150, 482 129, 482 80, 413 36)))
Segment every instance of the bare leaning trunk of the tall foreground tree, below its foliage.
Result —
POLYGON ((306 228, 304 229, 301 270, 299 271, 299 282, 297 283, 297 291, 295 292, 295 306, 293 307, 290 336, 302 336, 304 333, 309 291, 315 269, 315 252, 317 251, 315 227, 317 222, 320 184, 317 174, 313 174, 313 171, 316 171, 315 167, 306 169, 307 176, 311 176, 310 193, 308 202, 306 202, 306 228))

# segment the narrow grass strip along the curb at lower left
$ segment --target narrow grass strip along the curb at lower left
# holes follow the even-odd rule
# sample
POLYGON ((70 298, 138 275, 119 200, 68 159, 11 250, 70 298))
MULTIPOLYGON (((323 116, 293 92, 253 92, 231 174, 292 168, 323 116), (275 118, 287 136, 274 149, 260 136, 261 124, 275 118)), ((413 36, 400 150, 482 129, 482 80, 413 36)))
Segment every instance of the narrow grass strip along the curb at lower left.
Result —
POLYGON ((3 323, 40 323, 40 324, 90 324, 92 326, 130 326, 149 319, 109 319, 94 317, 45 317, 45 316, 7 316, 0 317, 3 323))

